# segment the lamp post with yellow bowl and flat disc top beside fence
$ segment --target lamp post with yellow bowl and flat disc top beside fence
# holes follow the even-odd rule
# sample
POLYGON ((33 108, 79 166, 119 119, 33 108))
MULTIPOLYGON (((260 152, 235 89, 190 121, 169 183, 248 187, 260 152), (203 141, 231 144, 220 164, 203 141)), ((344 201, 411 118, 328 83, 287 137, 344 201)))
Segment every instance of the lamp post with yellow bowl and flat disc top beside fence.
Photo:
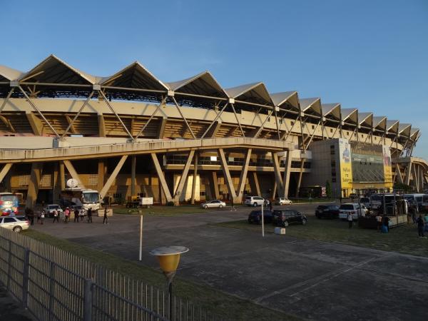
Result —
POLYGON ((163 246, 162 248, 156 248, 150 251, 151 255, 158 258, 163 275, 166 277, 170 320, 172 320, 173 317, 173 277, 175 276, 178 263, 180 263, 180 255, 188 252, 188 250, 189 249, 185 246, 163 246))

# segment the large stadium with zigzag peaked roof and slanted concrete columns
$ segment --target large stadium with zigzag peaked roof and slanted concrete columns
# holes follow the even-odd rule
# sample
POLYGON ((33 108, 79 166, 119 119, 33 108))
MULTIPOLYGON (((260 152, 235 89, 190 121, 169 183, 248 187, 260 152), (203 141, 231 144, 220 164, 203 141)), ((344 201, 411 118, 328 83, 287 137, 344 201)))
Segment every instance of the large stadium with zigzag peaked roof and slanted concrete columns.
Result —
POLYGON ((108 77, 53 55, 25 73, 0 66, 0 189, 30 207, 55 202, 68 178, 103 197, 157 203, 240 203, 328 184, 342 197, 394 182, 422 191, 420 135, 263 83, 225 89, 208 71, 165 83, 138 62, 108 77))

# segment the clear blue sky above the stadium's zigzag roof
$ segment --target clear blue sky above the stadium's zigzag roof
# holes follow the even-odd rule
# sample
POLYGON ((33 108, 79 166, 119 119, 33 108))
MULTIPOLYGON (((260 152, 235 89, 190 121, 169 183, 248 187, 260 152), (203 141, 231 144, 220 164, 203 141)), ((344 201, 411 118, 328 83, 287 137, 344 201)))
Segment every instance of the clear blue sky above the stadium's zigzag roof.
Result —
POLYGON ((163 81, 210 70, 422 128, 428 158, 428 1, 0 1, 0 64, 49 54, 106 76, 140 61, 163 81), (427 129, 425 129, 427 128, 427 129))

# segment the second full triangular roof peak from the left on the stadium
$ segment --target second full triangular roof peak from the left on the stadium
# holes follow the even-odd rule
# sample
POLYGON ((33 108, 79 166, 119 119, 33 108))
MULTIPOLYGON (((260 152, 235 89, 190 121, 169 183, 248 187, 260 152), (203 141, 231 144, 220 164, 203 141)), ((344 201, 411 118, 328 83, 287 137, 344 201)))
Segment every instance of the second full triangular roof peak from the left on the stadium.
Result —
POLYGON ((168 91, 168 87, 138 61, 113 76, 102 78, 101 86, 168 91))

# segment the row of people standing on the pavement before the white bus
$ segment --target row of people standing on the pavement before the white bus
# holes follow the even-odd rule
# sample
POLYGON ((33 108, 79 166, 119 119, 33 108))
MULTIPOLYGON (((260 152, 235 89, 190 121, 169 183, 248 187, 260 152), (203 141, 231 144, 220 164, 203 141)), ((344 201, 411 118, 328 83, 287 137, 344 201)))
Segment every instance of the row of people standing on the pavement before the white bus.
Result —
MULTIPOLYGON (((83 210, 79 210, 78 208, 76 208, 74 210, 74 223, 78 223, 79 220, 82 222, 83 218, 84 218, 84 211, 83 210)), ((108 224, 108 207, 106 206, 104 208, 104 215, 103 215, 103 224, 108 224)), ((86 222, 87 223, 92 223, 92 214, 93 214, 93 210, 92 208, 89 208, 87 210, 87 219, 86 222)), ((31 208, 26 208, 25 209, 25 215, 26 218, 30 221, 31 225, 34 225, 34 217, 37 218, 37 223, 40 223, 41 225, 44 224, 44 220, 46 218, 46 211, 42 210, 41 212, 39 212, 38 214, 34 213, 34 210, 32 210, 31 208)), ((52 223, 59 223, 59 217, 60 217, 60 213, 58 213, 58 210, 53 210, 51 212, 51 215, 53 216, 54 220, 52 221, 52 223)), ((63 222, 64 223, 68 223, 70 221, 70 217, 71 217, 71 208, 66 208, 63 211, 63 222)))

